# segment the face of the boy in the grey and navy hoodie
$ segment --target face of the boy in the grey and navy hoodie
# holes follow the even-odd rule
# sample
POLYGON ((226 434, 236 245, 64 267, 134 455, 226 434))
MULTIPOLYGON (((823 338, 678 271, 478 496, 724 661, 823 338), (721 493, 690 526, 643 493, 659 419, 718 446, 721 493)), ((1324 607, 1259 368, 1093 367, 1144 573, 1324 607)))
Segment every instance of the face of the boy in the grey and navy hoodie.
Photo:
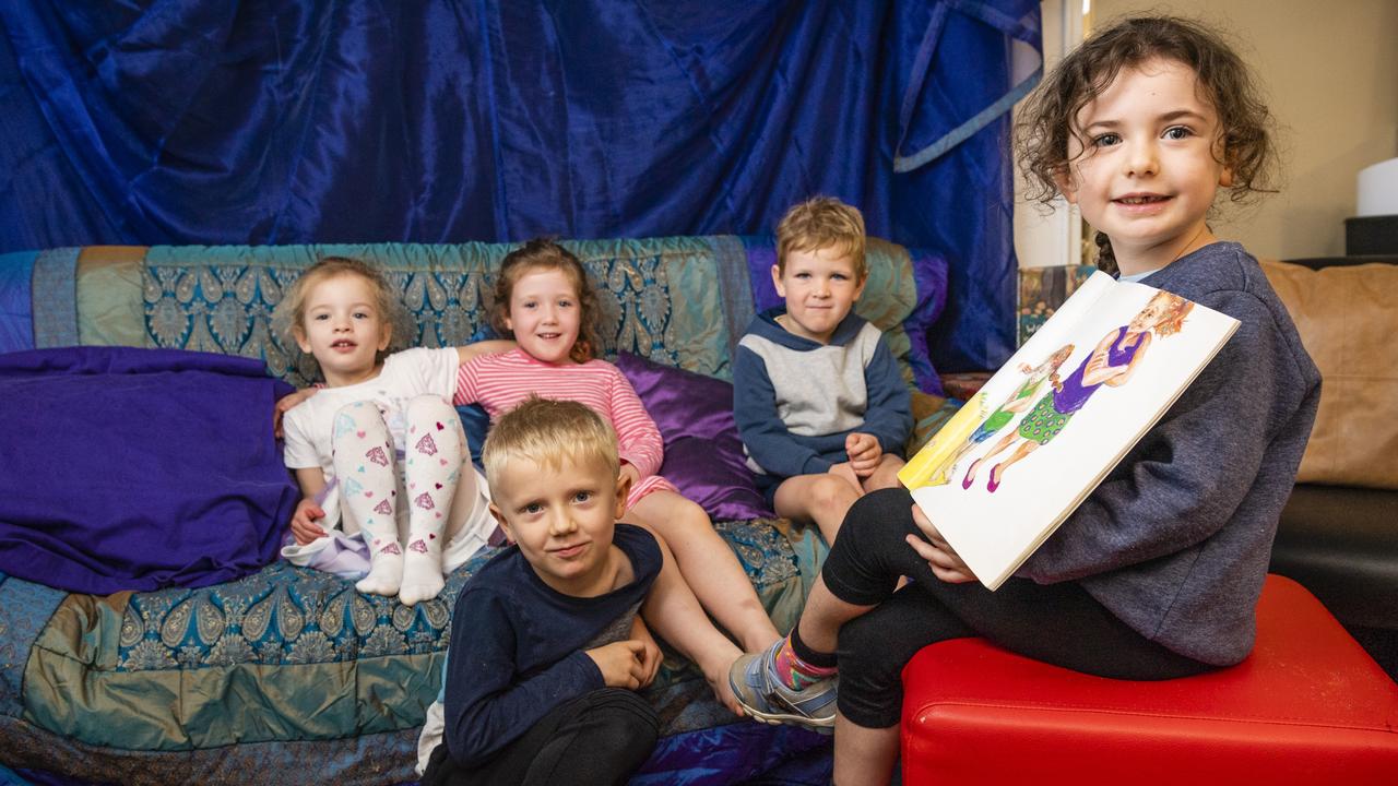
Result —
POLYGON ((864 280, 854 274, 854 260, 833 246, 788 253, 786 270, 772 266, 772 283, 787 302, 784 327, 819 344, 830 341, 840 320, 864 292, 864 280))

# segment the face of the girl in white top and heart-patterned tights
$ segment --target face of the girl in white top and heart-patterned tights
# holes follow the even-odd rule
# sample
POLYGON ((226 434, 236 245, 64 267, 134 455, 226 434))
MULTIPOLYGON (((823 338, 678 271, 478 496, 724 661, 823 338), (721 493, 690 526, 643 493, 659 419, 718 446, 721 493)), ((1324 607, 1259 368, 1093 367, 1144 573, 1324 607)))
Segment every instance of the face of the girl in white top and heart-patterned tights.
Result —
POLYGON ((333 276, 306 292, 296 344, 315 355, 326 385, 354 385, 373 375, 376 355, 393 334, 377 303, 373 285, 359 276, 333 276))

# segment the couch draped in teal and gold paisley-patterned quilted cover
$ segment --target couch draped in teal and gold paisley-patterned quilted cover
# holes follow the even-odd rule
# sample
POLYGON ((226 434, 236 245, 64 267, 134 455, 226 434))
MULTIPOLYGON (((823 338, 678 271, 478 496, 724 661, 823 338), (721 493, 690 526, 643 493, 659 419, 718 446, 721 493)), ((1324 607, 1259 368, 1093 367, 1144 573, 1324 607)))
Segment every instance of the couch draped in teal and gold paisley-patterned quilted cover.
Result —
MULTIPOLYGON (((763 509, 742 466, 727 382, 744 326, 776 299, 766 276, 770 239, 565 245, 598 285, 605 355, 661 427, 663 473, 709 510, 777 627, 788 628, 825 547, 812 529, 763 509)), ((92 246, 4 255, 0 351, 88 345, 235 355, 302 386, 309 369, 268 324, 284 288, 319 256, 382 263, 417 317, 418 344, 454 345, 484 334, 491 276, 509 248, 92 246)), ((858 312, 885 330, 914 389, 916 448, 953 407, 937 396, 925 344, 942 306, 945 263, 871 239, 870 270, 858 312)), ((478 436, 482 413, 463 415, 478 436)), ((159 420, 159 403, 140 417, 159 420)), ((101 594, 46 586, 29 565, 0 568, 10 571, 0 572, 0 764, 131 785, 411 780, 418 727, 440 687, 452 603, 488 557, 454 572, 440 599, 414 608, 281 561, 204 586, 161 582, 101 594)), ((737 722, 674 653, 647 695, 660 708, 664 737, 640 783, 737 782, 821 744, 812 733, 737 722)))

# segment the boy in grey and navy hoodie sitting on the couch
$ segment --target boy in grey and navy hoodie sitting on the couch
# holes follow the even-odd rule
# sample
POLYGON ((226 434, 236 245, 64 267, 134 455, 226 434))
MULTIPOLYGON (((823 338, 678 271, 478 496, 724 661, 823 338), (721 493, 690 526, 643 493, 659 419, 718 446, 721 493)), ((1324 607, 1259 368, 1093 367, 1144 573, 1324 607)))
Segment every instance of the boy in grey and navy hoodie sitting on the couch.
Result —
POLYGON ((826 543, 864 492, 898 484, 913 428, 884 334, 853 313, 864 292, 864 217, 836 199, 777 225, 772 283, 786 306, 758 315, 733 364, 734 418, 779 516, 814 520, 826 543))

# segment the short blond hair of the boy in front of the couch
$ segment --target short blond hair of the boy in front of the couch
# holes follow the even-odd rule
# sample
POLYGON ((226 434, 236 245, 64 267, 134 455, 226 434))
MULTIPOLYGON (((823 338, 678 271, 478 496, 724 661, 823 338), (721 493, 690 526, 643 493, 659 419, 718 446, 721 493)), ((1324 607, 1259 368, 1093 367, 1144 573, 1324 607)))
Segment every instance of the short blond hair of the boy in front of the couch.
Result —
POLYGON ((485 483, 499 490, 505 464, 524 459, 558 470, 563 462, 601 462, 615 477, 621 473, 617 434, 603 418, 577 401, 556 401, 530 394, 491 427, 481 449, 485 483))

